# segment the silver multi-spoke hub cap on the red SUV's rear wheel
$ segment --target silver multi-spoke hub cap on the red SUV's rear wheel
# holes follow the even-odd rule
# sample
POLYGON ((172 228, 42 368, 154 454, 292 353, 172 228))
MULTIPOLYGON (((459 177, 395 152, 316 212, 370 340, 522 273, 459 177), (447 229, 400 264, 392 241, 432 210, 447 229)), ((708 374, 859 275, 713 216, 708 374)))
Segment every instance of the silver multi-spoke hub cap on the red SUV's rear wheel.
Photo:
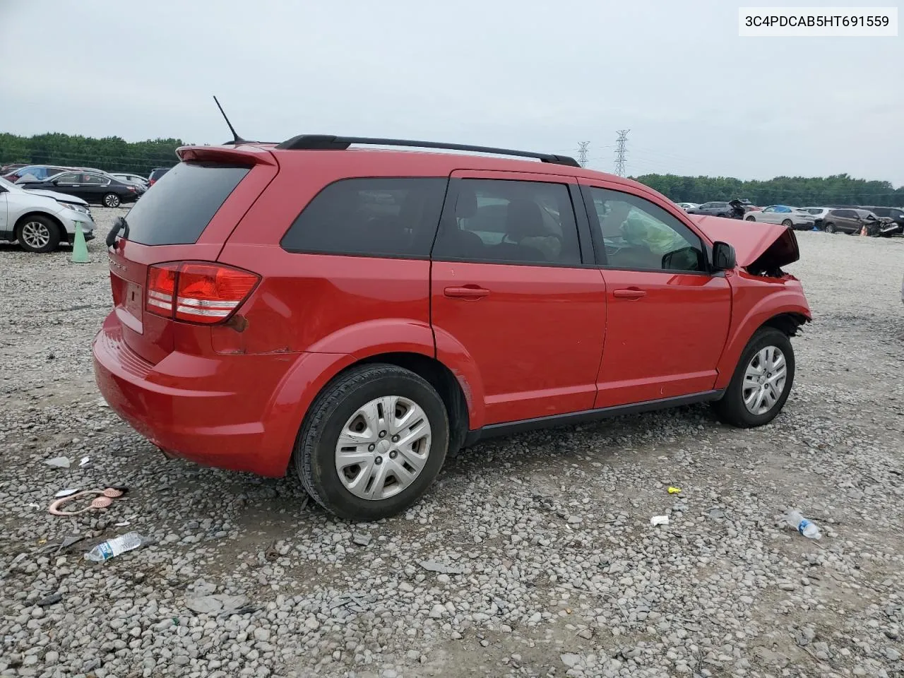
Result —
POLYGON ((336 442, 339 480, 362 499, 388 499, 420 475, 431 440, 427 414, 416 402, 402 396, 371 400, 345 422, 336 442))

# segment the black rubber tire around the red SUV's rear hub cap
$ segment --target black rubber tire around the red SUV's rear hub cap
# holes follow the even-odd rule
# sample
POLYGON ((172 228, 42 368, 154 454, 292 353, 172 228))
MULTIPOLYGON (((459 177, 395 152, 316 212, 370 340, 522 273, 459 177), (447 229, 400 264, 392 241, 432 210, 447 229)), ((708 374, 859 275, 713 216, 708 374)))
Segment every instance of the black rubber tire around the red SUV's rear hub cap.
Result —
POLYGON ((307 493, 327 511, 350 521, 377 521, 404 511, 427 492, 446 459, 448 439, 446 406, 428 381, 396 365, 373 363, 342 373, 317 395, 298 435, 293 463, 307 493), (386 499, 365 499, 352 494, 340 479, 336 443, 357 410, 389 395, 412 400, 427 415, 429 453, 410 485, 386 499))

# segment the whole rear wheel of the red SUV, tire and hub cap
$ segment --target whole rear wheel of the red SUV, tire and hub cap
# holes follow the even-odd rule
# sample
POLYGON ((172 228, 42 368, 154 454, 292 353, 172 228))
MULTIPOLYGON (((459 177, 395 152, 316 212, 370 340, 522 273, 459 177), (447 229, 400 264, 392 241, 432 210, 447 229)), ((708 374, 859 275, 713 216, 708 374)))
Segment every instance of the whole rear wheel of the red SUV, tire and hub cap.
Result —
POLYGON ((414 504, 446 458, 446 406, 428 381, 391 364, 354 367, 316 397, 294 464, 317 504, 376 521, 414 504))

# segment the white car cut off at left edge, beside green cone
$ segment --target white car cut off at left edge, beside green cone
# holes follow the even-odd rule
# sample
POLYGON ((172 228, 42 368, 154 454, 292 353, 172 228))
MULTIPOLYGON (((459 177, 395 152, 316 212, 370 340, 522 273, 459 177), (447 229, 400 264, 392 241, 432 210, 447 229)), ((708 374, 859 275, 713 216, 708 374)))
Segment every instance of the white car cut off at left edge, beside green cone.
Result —
POLYGON ((0 240, 18 240, 29 252, 50 252, 73 242, 77 226, 85 240, 94 237, 88 203, 53 191, 25 191, 0 178, 0 240))

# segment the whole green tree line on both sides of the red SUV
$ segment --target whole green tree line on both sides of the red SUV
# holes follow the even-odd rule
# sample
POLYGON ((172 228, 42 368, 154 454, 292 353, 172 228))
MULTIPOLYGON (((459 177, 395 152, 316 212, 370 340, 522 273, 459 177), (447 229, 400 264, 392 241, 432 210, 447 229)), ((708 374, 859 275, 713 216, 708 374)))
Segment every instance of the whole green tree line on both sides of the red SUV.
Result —
MULTIPOLYGON (((155 167, 178 162, 175 149, 182 139, 127 142, 120 137, 82 137, 61 133, 19 137, 0 133, 0 165, 66 165, 97 167, 108 172, 147 175, 155 167)), ((747 198, 758 205, 855 204, 904 207, 904 186, 853 179, 848 174, 825 177, 777 176, 767 181, 741 181, 730 176, 644 174, 632 177, 664 193, 674 202, 708 202, 747 198)))

